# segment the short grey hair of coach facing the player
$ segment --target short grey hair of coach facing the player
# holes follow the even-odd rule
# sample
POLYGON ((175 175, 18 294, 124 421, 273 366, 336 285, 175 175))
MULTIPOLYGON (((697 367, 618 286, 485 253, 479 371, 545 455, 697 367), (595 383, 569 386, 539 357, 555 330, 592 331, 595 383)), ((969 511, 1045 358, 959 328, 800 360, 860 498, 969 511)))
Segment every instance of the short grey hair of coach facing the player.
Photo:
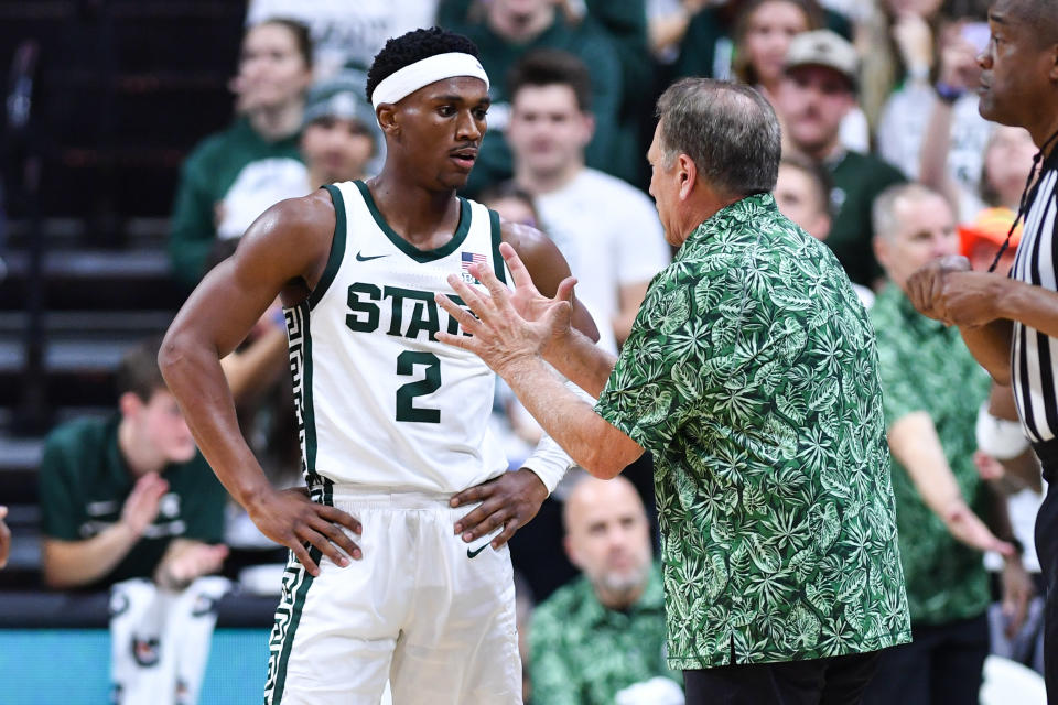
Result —
POLYGON ((782 152, 779 120, 759 93, 712 78, 683 78, 658 99, 661 160, 687 154, 717 191, 738 196, 775 188, 782 152))

